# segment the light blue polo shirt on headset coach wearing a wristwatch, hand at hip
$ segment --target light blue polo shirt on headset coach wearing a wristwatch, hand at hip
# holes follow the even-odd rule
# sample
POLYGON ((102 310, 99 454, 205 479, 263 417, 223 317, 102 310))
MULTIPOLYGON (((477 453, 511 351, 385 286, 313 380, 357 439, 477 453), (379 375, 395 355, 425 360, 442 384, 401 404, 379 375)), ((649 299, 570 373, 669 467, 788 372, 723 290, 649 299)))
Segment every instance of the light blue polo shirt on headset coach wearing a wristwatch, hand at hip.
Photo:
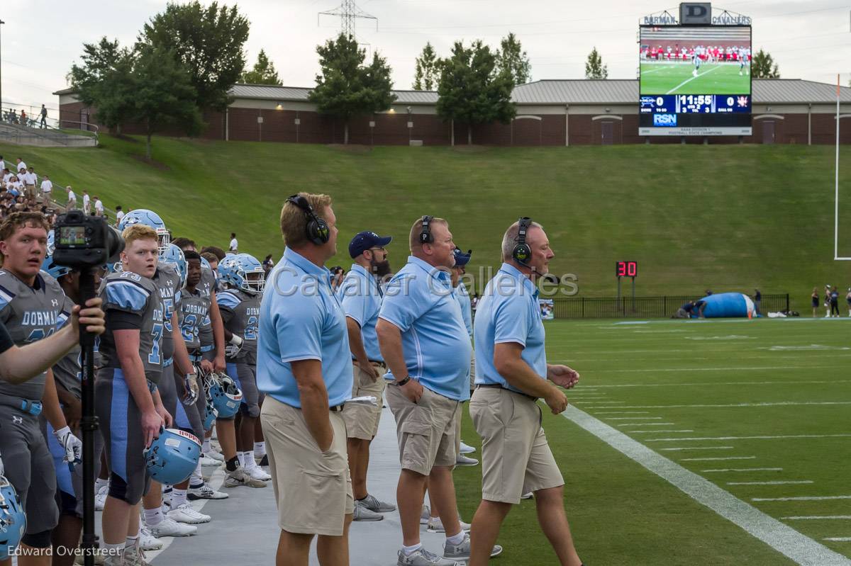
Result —
MULTIPOLYGON (((408 257, 387 285, 379 317, 402 331, 408 375, 449 399, 470 399, 470 337, 447 271, 408 257)), ((390 371, 386 378, 395 379, 390 371)))

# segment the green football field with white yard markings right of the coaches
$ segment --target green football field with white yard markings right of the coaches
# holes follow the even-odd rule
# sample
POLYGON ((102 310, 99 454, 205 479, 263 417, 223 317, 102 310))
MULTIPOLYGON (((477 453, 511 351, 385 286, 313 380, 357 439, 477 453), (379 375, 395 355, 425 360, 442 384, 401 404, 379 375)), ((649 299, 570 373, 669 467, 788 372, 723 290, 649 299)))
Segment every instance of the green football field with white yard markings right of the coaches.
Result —
MULTIPOLYGON (((548 361, 580 371, 580 386, 568 392, 568 400, 580 411, 851 557, 851 541, 825 541, 851 537, 848 499, 753 501, 851 495, 849 327, 846 317, 648 324, 555 321, 546 329, 548 361), (806 438, 780 438, 797 435, 806 438), (672 448, 688 450, 665 450, 672 448), (741 459, 692 460, 729 457, 741 459), (742 484, 769 481, 808 483, 742 484), (843 518, 789 518, 804 516, 843 518)), ((541 406, 547 438, 566 482, 568 519, 585 563, 794 563, 541 406)), ((468 416, 464 427, 465 441, 479 442, 468 416)), ((481 466, 454 473, 466 520, 481 496, 481 473, 481 466)), ((505 552, 494 563, 556 563, 536 524, 534 501, 523 501, 511 511, 499 542, 505 552)))

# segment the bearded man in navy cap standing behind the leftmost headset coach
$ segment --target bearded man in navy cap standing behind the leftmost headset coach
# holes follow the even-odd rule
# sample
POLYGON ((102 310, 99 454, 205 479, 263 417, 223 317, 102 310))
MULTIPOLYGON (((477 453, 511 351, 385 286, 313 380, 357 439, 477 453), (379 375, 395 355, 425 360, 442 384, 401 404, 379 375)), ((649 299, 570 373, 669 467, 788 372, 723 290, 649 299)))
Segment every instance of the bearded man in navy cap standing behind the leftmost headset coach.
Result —
POLYGON ((351 490, 355 496, 355 512, 352 520, 380 521, 381 513, 396 511, 396 506, 379 501, 367 491, 367 469, 369 466, 369 443, 378 433, 384 395, 384 374, 387 365, 381 357, 375 323, 381 308, 383 293, 376 279, 380 267, 387 263, 384 246, 391 242, 390 236, 382 238, 374 232, 360 232, 351 239, 349 255, 355 260, 346 279, 337 291, 346 326, 349 332, 354 382, 351 397, 372 396, 375 405, 348 403, 343 407, 346 421, 346 448, 351 471, 351 490))

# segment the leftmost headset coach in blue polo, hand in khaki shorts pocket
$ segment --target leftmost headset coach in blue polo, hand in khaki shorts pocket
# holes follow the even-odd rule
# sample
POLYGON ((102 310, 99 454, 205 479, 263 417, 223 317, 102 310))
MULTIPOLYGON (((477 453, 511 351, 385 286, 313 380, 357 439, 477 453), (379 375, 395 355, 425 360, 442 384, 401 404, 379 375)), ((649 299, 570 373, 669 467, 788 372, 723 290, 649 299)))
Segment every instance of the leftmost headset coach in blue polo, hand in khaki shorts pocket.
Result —
POLYGON ((346 314, 323 266, 337 246, 328 195, 299 193, 281 210, 287 245, 260 305, 257 387, 277 500, 277 564, 348 564, 354 501, 342 409, 351 398, 346 314))

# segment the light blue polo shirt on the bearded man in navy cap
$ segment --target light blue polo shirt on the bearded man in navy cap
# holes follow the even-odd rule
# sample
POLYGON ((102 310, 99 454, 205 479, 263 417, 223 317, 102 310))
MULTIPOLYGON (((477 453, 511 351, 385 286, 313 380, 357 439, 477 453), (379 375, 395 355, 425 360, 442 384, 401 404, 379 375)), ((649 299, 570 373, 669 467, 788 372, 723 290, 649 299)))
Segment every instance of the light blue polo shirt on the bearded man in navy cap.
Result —
POLYGON ((367 357, 373 361, 384 361, 378 347, 378 335, 375 333, 382 294, 378 280, 357 263, 352 264, 340 284, 340 289, 337 290, 343 312, 360 325, 363 348, 367 351, 367 357))

